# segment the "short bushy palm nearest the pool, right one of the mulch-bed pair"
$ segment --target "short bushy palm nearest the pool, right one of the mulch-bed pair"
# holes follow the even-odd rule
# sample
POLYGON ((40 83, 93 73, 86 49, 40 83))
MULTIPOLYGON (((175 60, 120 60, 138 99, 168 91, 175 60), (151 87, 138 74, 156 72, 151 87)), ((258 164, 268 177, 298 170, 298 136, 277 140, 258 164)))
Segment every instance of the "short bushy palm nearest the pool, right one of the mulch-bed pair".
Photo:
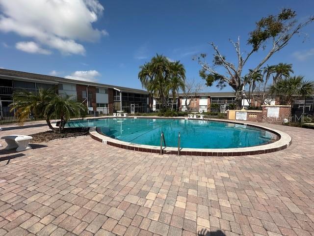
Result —
POLYGON ((59 118, 59 133, 61 133, 64 130, 66 122, 70 118, 84 117, 86 114, 86 106, 83 103, 74 100, 73 96, 56 95, 46 106, 44 116, 47 118, 59 118))

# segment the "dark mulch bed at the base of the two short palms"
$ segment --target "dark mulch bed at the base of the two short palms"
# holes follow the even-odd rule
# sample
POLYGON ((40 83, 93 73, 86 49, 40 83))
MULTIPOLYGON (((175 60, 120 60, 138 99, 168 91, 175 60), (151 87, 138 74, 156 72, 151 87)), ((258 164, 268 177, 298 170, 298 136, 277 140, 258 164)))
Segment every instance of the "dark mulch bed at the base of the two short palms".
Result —
POLYGON ((31 136, 33 139, 30 143, 48 142, 50 140, 72 138, 82 135, 88 135, 87 128, 66 128, 61 134, 54 133, 52 131, 46 131, 38 134, 32 134, 31 136))

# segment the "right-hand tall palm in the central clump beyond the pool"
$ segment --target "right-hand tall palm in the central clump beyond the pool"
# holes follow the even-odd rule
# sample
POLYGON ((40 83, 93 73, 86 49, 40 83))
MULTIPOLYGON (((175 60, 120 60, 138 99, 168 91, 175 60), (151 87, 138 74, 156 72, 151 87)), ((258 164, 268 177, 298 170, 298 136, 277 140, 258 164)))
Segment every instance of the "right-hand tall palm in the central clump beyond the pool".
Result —
POLYGON ((170 81, 169 81, 169 90, 172 92, 172 103, 171 111, 173 110, 173 104, 177 98, 177 94, 180 89, 185 87, 185 69, 180 61, 175 61, 170 63, 170 81))

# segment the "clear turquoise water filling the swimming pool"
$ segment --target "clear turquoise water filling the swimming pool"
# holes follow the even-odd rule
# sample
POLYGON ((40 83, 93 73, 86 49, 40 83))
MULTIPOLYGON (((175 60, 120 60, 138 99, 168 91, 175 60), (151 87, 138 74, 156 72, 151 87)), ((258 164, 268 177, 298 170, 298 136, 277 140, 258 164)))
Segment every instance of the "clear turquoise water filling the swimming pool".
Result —
POLYGON ((111 138, 135 144, 160 146, 164 133, 167 147, 178 147, 181 133, 182 148, 243 148, 262 145, 274 136, 258 127, 230 122, 163 118, 105 118, 71 120, 67 127, 101 128, 111 138))

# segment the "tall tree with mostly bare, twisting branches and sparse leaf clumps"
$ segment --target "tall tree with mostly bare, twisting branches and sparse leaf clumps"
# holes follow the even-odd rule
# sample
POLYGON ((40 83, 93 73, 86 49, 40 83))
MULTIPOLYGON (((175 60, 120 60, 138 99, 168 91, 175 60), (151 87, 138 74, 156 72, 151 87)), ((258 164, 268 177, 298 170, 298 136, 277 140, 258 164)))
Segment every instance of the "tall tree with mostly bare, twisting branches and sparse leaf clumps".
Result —
POLYGON ((295 11, 286 8, 278 15, 263 17, 256 23, 256 29, 250 32, 247 43, 252 46, 252 49, 248 53, 244 54, 240 50, 239 37, 236 42, 230 40, 235 48, 237 65, 230 60, 227 60, 214 43, 209 43, 214 51, 213 63, 209 64, 206 60, 206 54, 201 54, 197 57, 196 60, 202 67, 200 76, 206 80, 207 86, 212 86, 214 82, 217 82, 217 87, 219 88, 224 88, 227 85, 231 86, 235 91, 237 109, 240 109, 243 90, 250 81, 252 75, 258 72, 262 65, 273 54, 287 46, 292 36, 300 34, 301 29, 314 21, 314 17, 311 16, 305 22, 295 26, 295 17, 295 11), (243 76, 243 68, 251 56, 254 53, 257 53, 260 49, 266 50, 267 48, 268 52, 266 53, 266 56, 264 56, 253 69, 243 76), (224 72, 221 73, 221 69, 217 68, 221 68, 224 72))

